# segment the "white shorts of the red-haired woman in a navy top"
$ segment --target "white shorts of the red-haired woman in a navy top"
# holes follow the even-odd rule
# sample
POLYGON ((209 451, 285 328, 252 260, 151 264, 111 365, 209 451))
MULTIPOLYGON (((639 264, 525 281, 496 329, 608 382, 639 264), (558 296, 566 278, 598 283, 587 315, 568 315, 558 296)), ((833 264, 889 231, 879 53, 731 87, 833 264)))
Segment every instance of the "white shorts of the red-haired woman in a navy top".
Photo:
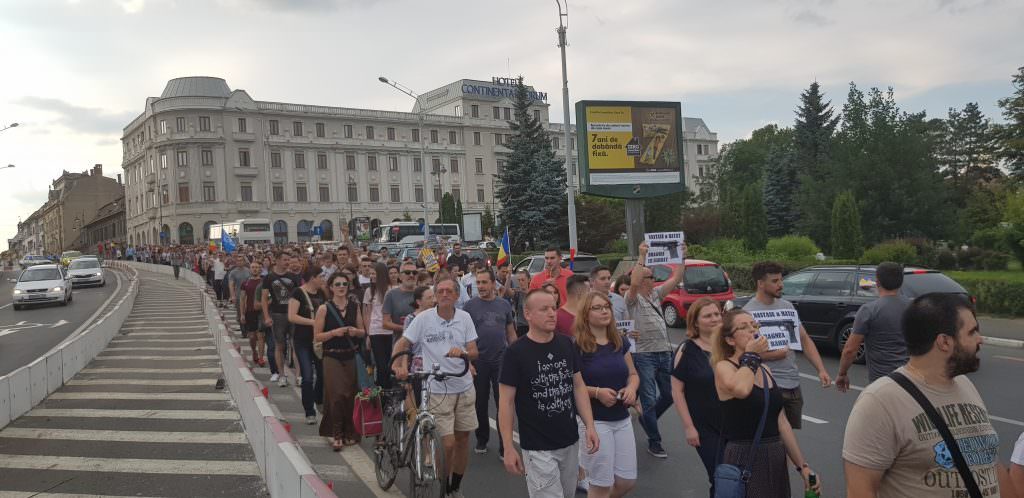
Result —
MULTIPOLYGON (((580 426, 580 441, 587 441, 587 427, 577 418, 580 426)), ((593 486, 610 488, 615 478, 637 479, 637 444, 633 438, 633 422, 629 417, 614 422, 594 421, 601 446, 597 452, 588 455, 586 445, 580 445, 580 466, 587 472, 587 481, 593 486)))

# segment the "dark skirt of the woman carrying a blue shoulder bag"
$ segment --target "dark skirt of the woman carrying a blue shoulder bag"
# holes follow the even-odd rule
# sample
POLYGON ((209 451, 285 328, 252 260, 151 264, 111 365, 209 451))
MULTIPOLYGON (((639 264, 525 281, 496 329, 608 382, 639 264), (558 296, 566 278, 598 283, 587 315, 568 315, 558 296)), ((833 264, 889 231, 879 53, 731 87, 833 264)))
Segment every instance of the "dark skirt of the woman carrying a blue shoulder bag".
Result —
MULTIPOLYGON (((743 465, 751 451, 750 441, 728 442, 722 463, 743 465)), ((746 496, 790 498, 790 468, 785 464, 785 445, 778 437, 762 438, 751 462, 751 481, 746 496)))

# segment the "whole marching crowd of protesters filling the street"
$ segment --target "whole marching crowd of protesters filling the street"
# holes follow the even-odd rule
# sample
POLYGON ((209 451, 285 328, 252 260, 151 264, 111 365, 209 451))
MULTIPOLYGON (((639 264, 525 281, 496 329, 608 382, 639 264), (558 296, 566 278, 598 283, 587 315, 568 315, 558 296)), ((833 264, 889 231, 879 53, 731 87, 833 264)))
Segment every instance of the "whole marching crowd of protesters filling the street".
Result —
MULTIPOLYGON (((471 377, 428 386, 437 395, 430 411, 446 453, 449 496, 467 494, 461 485, 470 434, 474 453, 490 449, 489 403, 498 410, 498 455, 510 473, 525 475, 531 497, 579 489, 591 497, 628 495, 641 473, 632 417, 646 451, 668 458, 658 419, 673 407, 707 470, 710 496, 788 497, 791 469, 803 479, 802 493, 826 489, 798 442, 804 398, 796 354, 769 349, 759 333, 766 321, 782 321, 799 335, 820 386, 833 385, 799 314, 781 297, 776 263, 754 265, 757 293, 742 308, 708 298, 692 303, 687 340, 674 345, 660 303, 682 282, 684 266, 655 284, 644 265, 646 245, 618 279, 606 266, 577 275, 557 249, 545 252, 541 273, 513 275, 508 265, 469 260, 458 243, 432 273, 421 260, 354 244, 129 251, 124 257, 170 264, 175 276, 180 267, 202 274, 218 303, 233 305, 252 361, 269 367, 271 382, 288 385, 285 365, 297 365, 292 380, 301 386, 306 421, 319 423, 335 451, 359 442, 352 411, 360 386, 408 375, 406 362, 388 371, 393 355, 414 350, 416 363, 443 371, 460 371, 467 357, 471 377), (617 328, 624 320, 633 321, 632 331, 617 328), (357 368, 362 364, 378 367, 373 378, 357 368)), ((901 297, 896 263, 879 265, 877 276, 880 297, 857 314, 835 378, 849 389, 848 371, 863 344, 871 383, 847 423, 847 496, 1024 493, 1024 435, 1012 463, 1001 464, 984 401, 965 375, 980 366, 971 304, 944 294, 901 297)))

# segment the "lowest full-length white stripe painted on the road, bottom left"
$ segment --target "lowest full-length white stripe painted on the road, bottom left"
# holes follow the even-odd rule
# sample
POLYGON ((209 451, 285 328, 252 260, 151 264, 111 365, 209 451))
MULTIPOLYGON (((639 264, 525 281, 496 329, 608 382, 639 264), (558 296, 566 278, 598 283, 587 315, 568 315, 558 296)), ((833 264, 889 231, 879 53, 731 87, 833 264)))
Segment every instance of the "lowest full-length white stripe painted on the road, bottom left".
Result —
POLYGON ((260 475, 256 463, 246 461, 147 460, 53 455, 0 455, 0 468, 177 475, 260 475))

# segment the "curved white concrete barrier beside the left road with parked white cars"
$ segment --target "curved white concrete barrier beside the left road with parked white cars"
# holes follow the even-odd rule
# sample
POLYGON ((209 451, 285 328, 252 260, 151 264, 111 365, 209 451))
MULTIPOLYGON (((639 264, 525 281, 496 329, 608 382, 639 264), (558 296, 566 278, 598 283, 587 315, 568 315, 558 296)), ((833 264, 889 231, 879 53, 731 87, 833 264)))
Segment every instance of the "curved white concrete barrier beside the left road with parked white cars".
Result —
MULTIPOLYGON (((49 395, 59 389, 79 371, 85 368, 106 347, 106 343, 117 335, 118 330, 135 303, 138 294, 134 269, 108 261, 106 267, 124 272, 130 281, 128 290, 114 303, 105 315, 98 316, 103 307, 93 315, 89 323, 73 333, 58 346, 34 362, 7 375, 0 376, 0 429, 25 415, 49 395)), ((117 294, 111 297, 117 298, 117 294)), ((106 303, 103 304, 105 306, 106 303)))

